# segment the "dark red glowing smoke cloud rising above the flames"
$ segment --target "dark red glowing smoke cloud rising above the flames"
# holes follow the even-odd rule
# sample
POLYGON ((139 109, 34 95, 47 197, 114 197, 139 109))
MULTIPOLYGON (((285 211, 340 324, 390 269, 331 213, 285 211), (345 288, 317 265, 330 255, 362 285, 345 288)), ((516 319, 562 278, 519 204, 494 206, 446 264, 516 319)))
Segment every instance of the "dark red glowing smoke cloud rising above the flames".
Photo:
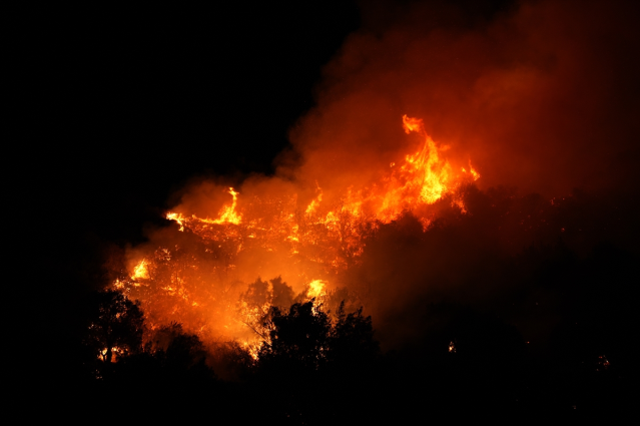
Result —
POLYGON ((458 162, 471 160, 482 188, 554 196, 610 185, 621 156, 637 155, 634 10, 632 2, 521 2, 465 24, 455 10, 417 2, 383 29, 375 26, 385 8, 373 10, 291 132, 300 167, 280 171, 338 185, 366 180, 406 151, 397 129, 408 114, 458 162))

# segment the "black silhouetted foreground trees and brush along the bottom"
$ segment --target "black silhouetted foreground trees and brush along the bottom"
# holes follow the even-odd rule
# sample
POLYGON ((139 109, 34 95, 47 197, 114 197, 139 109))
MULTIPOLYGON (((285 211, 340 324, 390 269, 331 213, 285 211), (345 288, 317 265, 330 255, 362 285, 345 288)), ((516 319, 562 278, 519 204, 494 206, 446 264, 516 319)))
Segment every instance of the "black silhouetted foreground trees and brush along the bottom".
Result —
POLYGON ((83 300, 84 324, 64 362, 48 367, 58 381, 37 390, 48 413, 114 421, 409 424, 436 415, 518 422, 622 414, 633 407, 637 378, 637 315, 626 293, 633 259, 604 246, 584 261, 554 250, 530 254, 539 265, 530 285, 555 286, 563 306, 543 348, 532 349, 489 310, 440 302, 423 307, 429 331, 421 339, 382 352, 362 311, 330 316, 310 301, 271 309, 263 324, 270 343, 254 360, 239 344, 205 347, 180 324, 144 341, 139 305, 96 291, 83 300))

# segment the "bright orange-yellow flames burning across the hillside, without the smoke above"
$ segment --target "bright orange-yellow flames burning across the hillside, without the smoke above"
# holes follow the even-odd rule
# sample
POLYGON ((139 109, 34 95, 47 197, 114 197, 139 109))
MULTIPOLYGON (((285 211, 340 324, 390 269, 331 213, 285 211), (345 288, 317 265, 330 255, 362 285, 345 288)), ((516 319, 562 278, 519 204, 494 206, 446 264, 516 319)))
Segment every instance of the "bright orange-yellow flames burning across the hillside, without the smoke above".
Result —
POLYGON ((480 177, 470 164, 469 171, 454 167, 422 120, 405 115, 402 125, 420 137, 419 148, 346 193, 316 181, 315 196, 304 203, 294 190, 265 197, 231 187, 217 216, 179 206, 166 218, 184 236, 138 250, 131 272, 113 287, 142 302, 151 328, 179 322, 205 341, 249 346, 264 340, 258 323, 270 306, 315 299, 335 309, 341 275, 360 262, 379 226, 412 214, 424 231, 435 214, 430 206, 445 196, 464 213, 455 194, 480 177))

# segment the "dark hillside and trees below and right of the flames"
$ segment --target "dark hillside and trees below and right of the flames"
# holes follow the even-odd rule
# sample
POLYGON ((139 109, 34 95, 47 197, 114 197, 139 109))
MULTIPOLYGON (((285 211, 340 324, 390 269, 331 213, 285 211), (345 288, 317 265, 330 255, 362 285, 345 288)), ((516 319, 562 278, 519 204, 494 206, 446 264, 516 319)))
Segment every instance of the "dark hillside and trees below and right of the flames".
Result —
POLYGON ((256 329, 268 342, 257 359, 236 342, 202 342, 180 324, 150 330, 135 301, 103 290, 110 281, 98 272, 101 256, 82 259, 75 275, 53 262, 42 277, 26 269, 34 282, 51 282, 50 273, 63 278, 23 299, 24 316, 35 320, 25 334, 34 349, 19 392, 38 408, 25 416, 324 425, 631 412, 640 347, 634 199, 596 204, 576 196, 555 203, 559 213, 536 220, 536 228, 539 197, 503 214, 499 202, 470 194, 473 214, 426 233, 410 217, 381 227, 367 246, 379 256, 363 256, 365 267, 386 261, 420 272, 395 268, 376 287, 378 300, 387 285, 408 292, 424 283, 421 289, 440 293, 401 294, 382 318, 353 300, 329 312, 291 299, 256 329), (508 255, 488 251, 491 238, 516 239, 520 228, 550 231, 508 255), (393 247, 411 250, 392 258, 393 247), (415 262, 404 262, 412 252, 420 254, 415 262), (464 285, 444 273, 421 278, 422 263, 427 272, 463 276, 464 285), (403 276, 422 281, 403 287, 403 276))

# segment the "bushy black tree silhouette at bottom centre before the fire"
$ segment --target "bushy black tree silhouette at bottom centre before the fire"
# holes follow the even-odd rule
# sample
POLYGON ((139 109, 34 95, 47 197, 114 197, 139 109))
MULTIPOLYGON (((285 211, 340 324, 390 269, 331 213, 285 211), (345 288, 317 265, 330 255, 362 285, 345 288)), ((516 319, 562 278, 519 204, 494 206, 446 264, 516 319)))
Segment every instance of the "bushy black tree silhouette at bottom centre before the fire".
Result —
POLYGON ((265 329, 270 339, 259 353, 257 389, 270 422, 335 423, 338 412, 369 400, 361 387, 372 380, 366 372, 378 344, 361 309, 347 314, 342 304, 332 321, 314 299, 288 311, 272 307, 265 329))

